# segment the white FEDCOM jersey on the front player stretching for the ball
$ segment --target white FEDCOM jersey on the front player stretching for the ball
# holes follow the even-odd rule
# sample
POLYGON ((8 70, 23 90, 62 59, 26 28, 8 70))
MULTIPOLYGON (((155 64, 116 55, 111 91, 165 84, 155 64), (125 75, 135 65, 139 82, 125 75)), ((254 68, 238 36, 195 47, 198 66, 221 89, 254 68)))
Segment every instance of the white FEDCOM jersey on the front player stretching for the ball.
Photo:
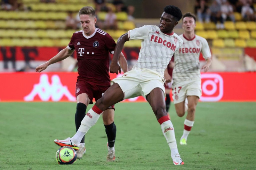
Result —
POLYGON ((134 67, 151 69, 162 76, 174 52, 183 44, 177 34, 162 33, 155 25, 130 30, 128 36, 130 40, 142 40, 139 57, 134 67))

